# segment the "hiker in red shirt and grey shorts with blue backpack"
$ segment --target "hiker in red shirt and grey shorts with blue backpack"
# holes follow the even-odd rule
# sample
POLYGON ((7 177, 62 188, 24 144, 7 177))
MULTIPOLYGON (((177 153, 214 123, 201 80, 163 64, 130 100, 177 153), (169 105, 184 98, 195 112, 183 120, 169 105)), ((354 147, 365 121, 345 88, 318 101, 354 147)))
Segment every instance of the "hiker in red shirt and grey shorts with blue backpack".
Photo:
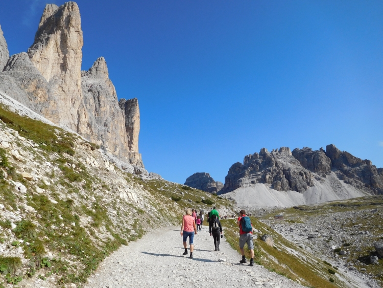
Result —
POLYGON ((253 225, 248 216, 246 216, 246 211, 240 211, 240 217, 238 217, 237 225, 240 227, 240 250, 242 255, 242 260, 240 263, 246 263, 245 257, 245 243, 247 243, 247 248, 250 250, 251 259, 250 266, 254 265, 254 243, 253 243, 253 225))

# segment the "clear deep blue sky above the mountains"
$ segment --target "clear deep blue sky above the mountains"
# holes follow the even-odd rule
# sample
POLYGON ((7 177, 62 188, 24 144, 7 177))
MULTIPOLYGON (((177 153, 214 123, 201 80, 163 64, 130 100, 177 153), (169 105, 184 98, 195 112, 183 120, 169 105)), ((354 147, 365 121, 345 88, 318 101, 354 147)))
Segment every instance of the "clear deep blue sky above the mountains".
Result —
MULTIPOLYGON (((63 2, 51 1, 58 5, 63 2)), ((383 2, 78 1, 87 70, 137 97, 149 171, 224 181, 246 154, 334 144, 383 167, 383 2)), ((3 0, 11 54, 45 2, 3 0)))

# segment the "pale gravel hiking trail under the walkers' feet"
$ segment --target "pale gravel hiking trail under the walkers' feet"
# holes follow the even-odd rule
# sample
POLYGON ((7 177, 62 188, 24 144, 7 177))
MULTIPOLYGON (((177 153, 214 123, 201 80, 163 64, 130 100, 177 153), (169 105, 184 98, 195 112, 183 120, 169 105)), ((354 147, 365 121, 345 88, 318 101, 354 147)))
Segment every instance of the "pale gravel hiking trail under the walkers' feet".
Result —
POLYGON ((86 287, 303 287, 260 265, 250 267, 249 260, 241 264, 225 237, 221 251, 213 251, 207 226, 195 235, 194 245, 194 259, 189 259, 182 255, 180 227, 150 232, 107 257, 86 287))

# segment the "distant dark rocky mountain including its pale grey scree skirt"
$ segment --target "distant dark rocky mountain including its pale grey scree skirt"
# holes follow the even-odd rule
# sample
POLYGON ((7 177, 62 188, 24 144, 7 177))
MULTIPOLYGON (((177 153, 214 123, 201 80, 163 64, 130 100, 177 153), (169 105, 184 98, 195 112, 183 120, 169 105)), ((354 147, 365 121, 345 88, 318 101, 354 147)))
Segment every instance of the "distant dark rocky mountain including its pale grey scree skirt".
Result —
POLYGON ((330 144, 326 150, 262 148, 230 167, 219 193, 242 206, 288 207, 383 194, 382 188, 383 168, 330 144))

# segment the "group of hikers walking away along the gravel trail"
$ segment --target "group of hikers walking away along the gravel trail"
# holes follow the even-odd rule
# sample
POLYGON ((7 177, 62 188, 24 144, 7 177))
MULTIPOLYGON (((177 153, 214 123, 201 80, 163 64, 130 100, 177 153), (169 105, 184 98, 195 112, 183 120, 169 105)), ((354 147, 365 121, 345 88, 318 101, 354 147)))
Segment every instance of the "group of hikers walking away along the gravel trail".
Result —
MULTIPOLYGON (((240 263, 247 263, 245 257, 245 244, 247 243, 247 247, 250 250, 251 258, 250 258, 250 266, 254 265, 254 243, 253 243, 253 225, 251 224, 250 218, 246 215, 245 210, 240 211, 240 216, 237 218, 237 225, 240 228, 240 250, 242 259, 240 263)), ((189 246, 190 246, 190 256, 189 258, 193 259, 193 251, 194 251, 194 235, 197 235, 198 229, 201 231, 201 226, 204 221, 204 211, 201 210, 199 215, 197 215, 196 209, 186 209, 186 214, 182 218, 182 226, 181 226, 181 236, 183 237, 183 248, 185 251, 182 255, 187 255, 187 243, 186 240, 189 238, 189 246)), ((214 251, 220 251, 220 238, 223 237, 222 234, 222 225, 220 222, 220 213, 217 211, 214 206, 210 212, 207 213, 206 222, 209 224, 209 233, 210 236, 213 237, 214 240, 214 251)))

